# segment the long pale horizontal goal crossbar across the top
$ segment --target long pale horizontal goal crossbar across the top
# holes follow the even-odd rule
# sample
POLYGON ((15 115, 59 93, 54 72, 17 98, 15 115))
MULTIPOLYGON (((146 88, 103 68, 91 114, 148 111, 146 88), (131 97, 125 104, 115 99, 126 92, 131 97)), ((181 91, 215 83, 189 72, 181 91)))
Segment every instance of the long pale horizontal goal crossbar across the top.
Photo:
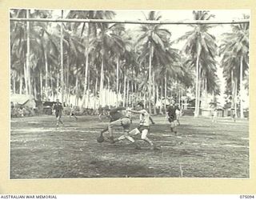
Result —
POLYGON ((10 18, 14 22, 87 22, 87 23, 126 23, 126 24, 241 24, 250 23, 249 19, 231 21, 186 20, 186 21, 156 21, 156 20, 113 20, 113 19, 82 19, 82 18, 10 18))

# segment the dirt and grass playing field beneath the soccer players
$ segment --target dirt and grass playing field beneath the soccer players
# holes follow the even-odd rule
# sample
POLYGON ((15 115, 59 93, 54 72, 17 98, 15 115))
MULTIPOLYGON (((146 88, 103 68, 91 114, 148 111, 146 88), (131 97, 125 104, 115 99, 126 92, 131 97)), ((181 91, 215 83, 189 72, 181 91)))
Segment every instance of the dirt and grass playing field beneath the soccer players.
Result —
POLYGON ((54 115, 13 118, 10 178, 250 178, 248 121, 183 116, 174 136, 164 116, 153 118, 149 138, 161 150, 142 140, 142 150, 128 141, 98 143, 107 120, 96 116, 64 116, 58 129, 54 115))

